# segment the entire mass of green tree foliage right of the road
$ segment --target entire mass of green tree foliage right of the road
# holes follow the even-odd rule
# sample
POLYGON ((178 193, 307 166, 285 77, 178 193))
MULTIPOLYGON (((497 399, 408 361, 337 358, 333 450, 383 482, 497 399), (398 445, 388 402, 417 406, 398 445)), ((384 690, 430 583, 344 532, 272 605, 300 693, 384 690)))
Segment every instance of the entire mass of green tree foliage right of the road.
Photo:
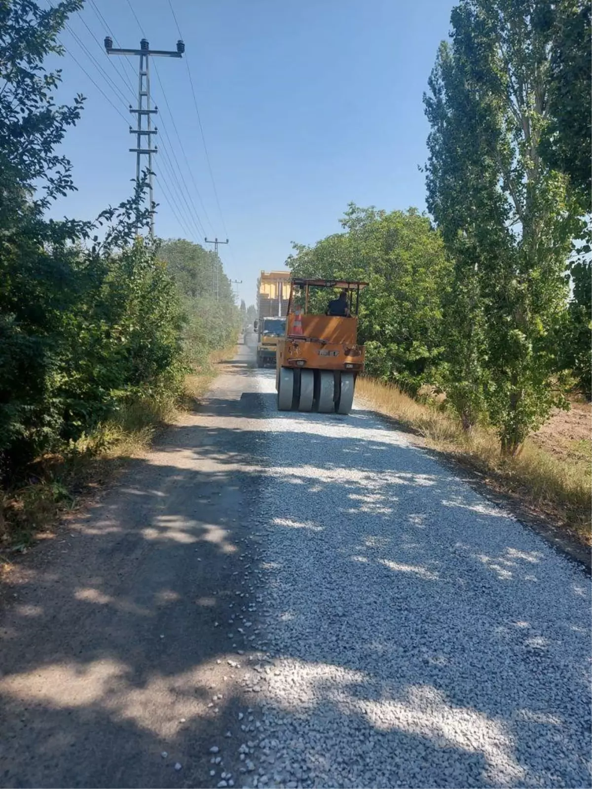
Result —
POLYGON ((414 211, 352 205, 342 233, 288 260, 301 276, 368 280, 368 372, 442 387, 506 454, 567 406, 568 367, 586 391, 592 380, 590 248, 574 257, 590 205, 589 21, 579 0, 461 0, 425 96, 437 231, 414 211))

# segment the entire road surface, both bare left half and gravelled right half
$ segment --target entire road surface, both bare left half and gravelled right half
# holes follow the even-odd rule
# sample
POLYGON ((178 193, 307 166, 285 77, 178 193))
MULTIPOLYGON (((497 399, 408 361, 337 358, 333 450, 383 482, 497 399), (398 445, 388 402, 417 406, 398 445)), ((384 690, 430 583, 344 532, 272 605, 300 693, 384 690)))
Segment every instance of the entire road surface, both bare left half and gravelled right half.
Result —
POLYGON ((592 786, 589 576, 251 355, 25 563, 2 786, 592 786))

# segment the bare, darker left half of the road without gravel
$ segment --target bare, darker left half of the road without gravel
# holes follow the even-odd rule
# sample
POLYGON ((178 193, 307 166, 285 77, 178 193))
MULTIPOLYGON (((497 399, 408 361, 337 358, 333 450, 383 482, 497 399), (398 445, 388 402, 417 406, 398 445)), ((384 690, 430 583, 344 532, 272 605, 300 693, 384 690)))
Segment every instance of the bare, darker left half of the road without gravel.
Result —
POLYGON ((197 413, 9 574, 3 789, 189 789, 210 770, 220 780, 210 749, 242 735, 257 657, 252 503, 264 477, 249 429, 257 402, 242 397, 250 364, 219 376, 197 413))

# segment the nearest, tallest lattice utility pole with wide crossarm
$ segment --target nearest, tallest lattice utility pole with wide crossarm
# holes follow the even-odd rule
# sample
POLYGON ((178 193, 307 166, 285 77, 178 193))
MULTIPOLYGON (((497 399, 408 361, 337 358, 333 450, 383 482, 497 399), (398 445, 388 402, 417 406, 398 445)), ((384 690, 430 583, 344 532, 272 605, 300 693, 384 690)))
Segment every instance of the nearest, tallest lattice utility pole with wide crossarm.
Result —
POLYGON ((131 153, 136 154, 136 183, 140 183, 141 174, 141 157, 148 156, 148 199, 150 200, 150 237, 154 238, 154 183, 152 178, 154 172, 152 170, 152 154, 158 153, 158 147, 152 148, 152 135, 158 134, 158 129, 152 129, 152 115, 158 113, 158 107, 152 109, 151 95, 150 95, 150 66, 149 58, 182 58, 185 52, 185 44, 182 41, 177 42, 177 49, 174 52, 167 52, 165 50, 151 50, 150 45, 146 39, 140 42, 139 50, 121 50, 113 48, 113 39, 111 36, 105 38, 105 49, 107 54, 123 54, 123 55, 138 55, 140 57, 140 71, 139 83, 137 92, 137 109, 129 105, 129 112, 137 115, 136 128, 129 127, 129 133, 136 135, 136 148, 129 148, 131 153), (146 118, 146 125, 144 128, 143 118, 146 118), (142 148, 142 138, 146 137, 147 148, 142 148))

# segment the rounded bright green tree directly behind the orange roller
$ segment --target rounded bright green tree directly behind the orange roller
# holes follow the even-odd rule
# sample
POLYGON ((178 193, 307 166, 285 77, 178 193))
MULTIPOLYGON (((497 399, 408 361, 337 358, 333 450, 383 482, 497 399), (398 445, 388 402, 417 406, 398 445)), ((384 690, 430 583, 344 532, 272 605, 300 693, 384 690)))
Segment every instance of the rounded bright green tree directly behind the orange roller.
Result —
MULTIPOLYGON (((437 383, 442 353, 442 297, 451 275, 440 235, 415 209, 377 211, 350 204, 343 233, 314 247, 294 245, 295 275, 369 282, 359 335, 371 375, 415 393, 437 383)), ((324 312, 326 294, 313 308, 324 312)))

